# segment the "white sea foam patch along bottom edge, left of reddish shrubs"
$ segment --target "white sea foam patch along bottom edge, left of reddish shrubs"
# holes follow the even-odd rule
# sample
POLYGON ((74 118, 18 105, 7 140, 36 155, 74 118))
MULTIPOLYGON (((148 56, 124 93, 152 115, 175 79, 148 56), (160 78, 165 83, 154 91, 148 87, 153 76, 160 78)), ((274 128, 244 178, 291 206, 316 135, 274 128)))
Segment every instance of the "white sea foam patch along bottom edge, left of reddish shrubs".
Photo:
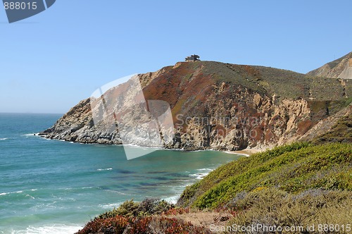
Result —
POLYGON ((82 229, 82 226, 72 225, 67 226, 64 224, 52 224, 48 226, 29 226, 25 230, 12 230, 13 234, 62 234, 62 233, 75 233, 78 230, 82 229))

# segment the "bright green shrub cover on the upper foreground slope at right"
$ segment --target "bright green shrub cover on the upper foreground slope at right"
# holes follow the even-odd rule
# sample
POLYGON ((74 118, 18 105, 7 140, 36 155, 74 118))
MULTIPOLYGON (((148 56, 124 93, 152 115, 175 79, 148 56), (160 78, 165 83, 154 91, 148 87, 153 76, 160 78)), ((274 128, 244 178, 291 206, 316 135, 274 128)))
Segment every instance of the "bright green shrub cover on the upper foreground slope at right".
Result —
POLYGON ((194 201, 192 207, 214 209, 257 187, 290 193, 318 187, 351 190, 351 170, 351 144, 294 143, 225 164, 199 181, 196 192, 189 192, 195 187, 187 188, 181 199, 194 201))

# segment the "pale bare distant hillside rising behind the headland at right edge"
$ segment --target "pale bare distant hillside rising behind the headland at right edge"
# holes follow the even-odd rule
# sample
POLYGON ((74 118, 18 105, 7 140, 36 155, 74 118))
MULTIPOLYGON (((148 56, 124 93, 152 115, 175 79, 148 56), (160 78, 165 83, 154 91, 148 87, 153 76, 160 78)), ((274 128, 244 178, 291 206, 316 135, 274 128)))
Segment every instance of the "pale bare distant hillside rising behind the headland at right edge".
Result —
POLYGON ((310 71, 307 75, 327 78, 352 79, 352 52, 324 66, 310 71))

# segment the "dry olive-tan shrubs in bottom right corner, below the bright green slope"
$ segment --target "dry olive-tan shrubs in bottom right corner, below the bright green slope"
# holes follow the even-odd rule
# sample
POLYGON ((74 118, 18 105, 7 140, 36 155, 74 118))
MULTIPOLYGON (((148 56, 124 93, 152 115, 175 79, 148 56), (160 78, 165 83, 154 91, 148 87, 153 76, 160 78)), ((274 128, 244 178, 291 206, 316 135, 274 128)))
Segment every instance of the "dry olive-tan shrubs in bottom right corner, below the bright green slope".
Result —
MULTIPOLYGON (((289 194, 276 188, 265 188, 249 192, 244 199, 231 205, 241 209, 229 225, 237 226, 301 226, 303 230, 295 233, 318 232, 318 224, 334 223, 346 227, 351 224, 352 192, 339 190, 312 189, 289 194), (307 226, 315 225, 315 232, 306 230, 307 226)), ((241 233, 241 231, 237 232, 241 233)), ((248 232, 243 232, 248 233, 248 232)), ((343 230, 329 233, 348 233, 343 230)))

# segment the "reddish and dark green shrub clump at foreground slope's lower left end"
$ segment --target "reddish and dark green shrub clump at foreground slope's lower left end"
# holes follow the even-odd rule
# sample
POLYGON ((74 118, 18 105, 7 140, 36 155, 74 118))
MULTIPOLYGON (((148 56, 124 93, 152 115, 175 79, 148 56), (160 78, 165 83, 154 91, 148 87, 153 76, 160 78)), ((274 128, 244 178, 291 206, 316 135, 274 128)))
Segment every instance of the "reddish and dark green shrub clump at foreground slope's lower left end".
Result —
POLYGON ((105 212, 87 223, 77 234, 89 233, 210 233, 205 227, 194 226, 190 222, 155 216, 169 211, 181 213, 165 200, 147 198, 143 202, 126 201, 118 209, 105 212))

